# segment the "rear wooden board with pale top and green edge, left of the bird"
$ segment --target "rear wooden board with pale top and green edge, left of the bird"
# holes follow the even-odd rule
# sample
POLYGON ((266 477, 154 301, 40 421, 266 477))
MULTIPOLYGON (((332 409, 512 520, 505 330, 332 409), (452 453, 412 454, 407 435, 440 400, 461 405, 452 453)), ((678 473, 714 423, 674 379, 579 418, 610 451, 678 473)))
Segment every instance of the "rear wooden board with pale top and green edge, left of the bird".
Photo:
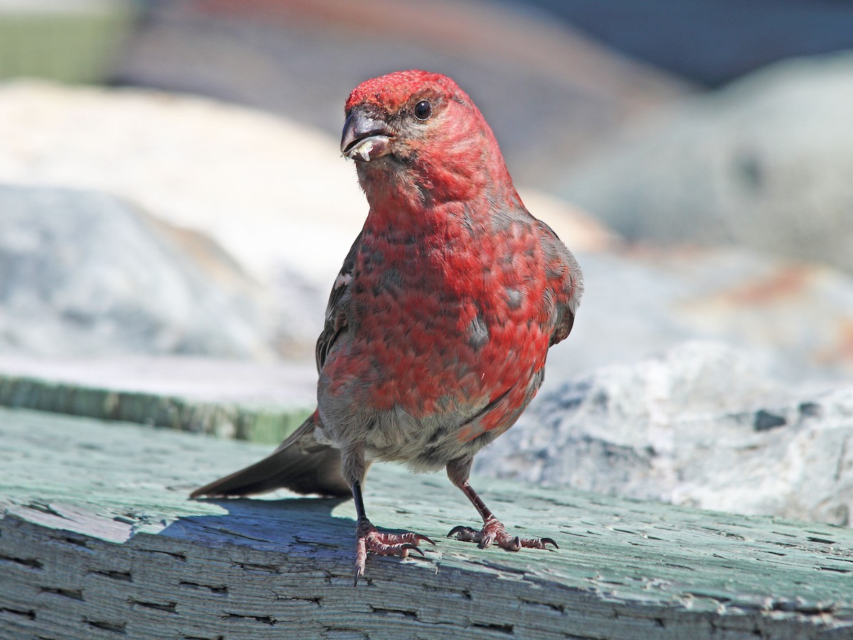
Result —
POLYGON ((0 405, 278 444, 316 406, 316 370, 211 358, 0 356, 0 405))

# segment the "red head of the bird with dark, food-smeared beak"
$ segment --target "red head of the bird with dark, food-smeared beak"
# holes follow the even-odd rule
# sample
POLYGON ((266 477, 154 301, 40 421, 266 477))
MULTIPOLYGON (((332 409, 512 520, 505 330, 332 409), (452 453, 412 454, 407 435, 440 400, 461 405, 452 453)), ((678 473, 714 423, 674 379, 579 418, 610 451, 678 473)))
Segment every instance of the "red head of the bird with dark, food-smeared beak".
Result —
MULTIPOLYGON (((371 207, 413 207, 515 194, 489 125, 440 73, 400 71, 359 84, 340 150, 357 163, 371 207)), ((515 195, 517 197, 517 195, 515 195)))

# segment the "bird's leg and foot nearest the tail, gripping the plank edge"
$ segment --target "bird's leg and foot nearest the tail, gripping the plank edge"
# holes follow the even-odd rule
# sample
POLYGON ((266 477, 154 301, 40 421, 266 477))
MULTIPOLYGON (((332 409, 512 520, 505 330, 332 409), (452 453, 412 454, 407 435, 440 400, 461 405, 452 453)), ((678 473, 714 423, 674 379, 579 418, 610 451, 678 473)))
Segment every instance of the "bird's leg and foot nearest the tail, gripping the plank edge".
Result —
POLYGON ((364 478, 364 462, 357 451, 352 451, 350 456, 343 457, 345 477, 351 479, 352 497, 356 501, 356 575, 353 585, 358 584, 358 579, 364 574, 364 564, 367 561, 368 551, 377 556, 409 556, 409 551, 417 551, 421 556, 424 552, 418 548, 421 542, 435 544, 427 536, 420 533, 386 533, 380 532, 373 523, 368 520, 364 511, 364 498, 362 497, 362 482, 364 478), (356 460, 352 460, 355 454, 356 460), (360 477, 354 480, 352 476, 360 477))

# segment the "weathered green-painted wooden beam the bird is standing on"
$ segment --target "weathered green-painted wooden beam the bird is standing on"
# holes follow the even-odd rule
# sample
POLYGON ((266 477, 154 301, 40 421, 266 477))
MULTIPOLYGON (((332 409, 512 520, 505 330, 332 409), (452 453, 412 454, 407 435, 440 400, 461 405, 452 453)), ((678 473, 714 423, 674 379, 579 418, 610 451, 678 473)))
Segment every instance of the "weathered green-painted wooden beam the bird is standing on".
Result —
POLYGON ((560 543, 479 550, 444 477, 379 467, 374 523, 437 544, 353 588, 351 501, 187 499, 267 446, 8 409, 0 442, 0 637, 853 637, 849 529, 474 479, 560 543))

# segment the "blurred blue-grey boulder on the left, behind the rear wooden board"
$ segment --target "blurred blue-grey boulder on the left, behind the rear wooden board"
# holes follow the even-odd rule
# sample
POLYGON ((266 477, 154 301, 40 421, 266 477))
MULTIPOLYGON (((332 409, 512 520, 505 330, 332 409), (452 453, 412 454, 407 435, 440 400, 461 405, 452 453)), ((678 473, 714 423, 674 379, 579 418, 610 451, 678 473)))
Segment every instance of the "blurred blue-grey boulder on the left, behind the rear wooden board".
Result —
POLYGON ((111 195, 0 185, 0 352, 269 352, 255 285, 204 236, 111 195))

